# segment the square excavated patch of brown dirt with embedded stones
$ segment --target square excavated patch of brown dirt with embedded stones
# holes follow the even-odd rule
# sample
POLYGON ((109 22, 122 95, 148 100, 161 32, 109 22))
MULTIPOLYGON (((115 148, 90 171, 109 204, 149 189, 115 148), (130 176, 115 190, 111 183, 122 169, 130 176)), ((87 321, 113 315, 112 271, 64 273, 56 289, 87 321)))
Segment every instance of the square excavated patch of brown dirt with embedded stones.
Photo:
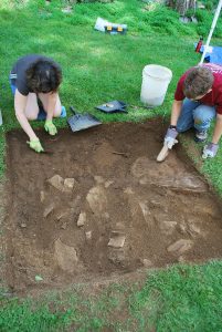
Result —
POLYGON ((8 145, 7 280, 14 291, 222 256, 222 205, 160 122, 108 124, 8 145))

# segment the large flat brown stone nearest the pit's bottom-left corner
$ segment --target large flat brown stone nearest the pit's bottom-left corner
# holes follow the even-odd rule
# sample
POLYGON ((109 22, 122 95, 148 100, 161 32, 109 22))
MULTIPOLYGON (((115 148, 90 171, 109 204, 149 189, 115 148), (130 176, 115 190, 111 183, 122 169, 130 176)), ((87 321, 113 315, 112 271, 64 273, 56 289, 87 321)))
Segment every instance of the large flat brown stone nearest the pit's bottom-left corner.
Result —
POLYGON ((54 250, 59 267, 68 273, 74 272, 78 262, 76 250, 64 245, 60 239, 54 242, 54 250))

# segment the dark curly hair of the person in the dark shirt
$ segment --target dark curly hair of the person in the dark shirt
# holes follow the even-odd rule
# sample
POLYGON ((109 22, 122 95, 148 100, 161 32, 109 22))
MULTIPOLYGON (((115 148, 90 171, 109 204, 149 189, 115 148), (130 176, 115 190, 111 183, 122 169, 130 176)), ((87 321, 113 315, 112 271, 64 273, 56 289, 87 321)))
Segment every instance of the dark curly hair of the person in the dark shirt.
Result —
POLYGON ((35 93, 56 92, 62 82, 61 68, 50 60, 36 60, 25 74, 28 86, 35 93))

